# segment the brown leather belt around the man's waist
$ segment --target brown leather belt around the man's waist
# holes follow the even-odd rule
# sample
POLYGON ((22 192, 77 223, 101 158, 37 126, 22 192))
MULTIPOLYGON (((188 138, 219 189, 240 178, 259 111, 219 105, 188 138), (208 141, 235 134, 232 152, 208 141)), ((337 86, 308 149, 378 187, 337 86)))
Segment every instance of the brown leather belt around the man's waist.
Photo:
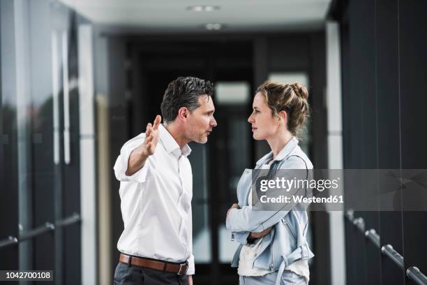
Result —
POLYGON ((130 263, 130 265, 135 265, 142 268, 150 268, 154 270, 176 273, 177 275, 186 274, 188 270, 187 261, 184 263, 171 263, 167 261, 159 261, 157 259, 128 256, 127 254, 120 254, 119 261, 121 263, 130 263))

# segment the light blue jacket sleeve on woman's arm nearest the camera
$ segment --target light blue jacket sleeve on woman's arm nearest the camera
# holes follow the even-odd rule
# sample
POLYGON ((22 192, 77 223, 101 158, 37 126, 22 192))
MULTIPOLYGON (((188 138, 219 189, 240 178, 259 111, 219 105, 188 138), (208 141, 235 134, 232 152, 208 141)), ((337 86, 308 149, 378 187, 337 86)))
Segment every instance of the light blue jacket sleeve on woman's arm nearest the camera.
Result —
MULTIPOLYGON (((290 156, 287 158, 287 161, 283 163, 283 168, 280 168, 280 177, 286 176, 286 169, 296 170, 296 169, 306 169, 306 163, 299 156, 290 156)), ((290 172, 291 173, 291 172, 290 172)), ((293 172, 294 174, 294 172, 293 172)), ((302 174, 302 172, 301 172, 302 174)), ((293 175, 292 175, 292 178, 293 175)), ((290 177, 290 179, 292 179, 290 177)), ((306 179, 306 176, 299 177, 301 179, 306 179)), ((292 193, 288 196, 295 195, 300 193, 301 189, 293 189, 292 193)), ((264 210, 252 210, 250 206, 244 206, 241 209, 232 209, 227 216, 225 225, 228 230, 232 232, 254 232, 259 233, 265 229, 274 226, 277 224, 285 215, 292 210, 296 205, 294 200, 290 198, 290 203, 284 203, 283 207, 280 210, 276 211, 264 211, 264 210)))

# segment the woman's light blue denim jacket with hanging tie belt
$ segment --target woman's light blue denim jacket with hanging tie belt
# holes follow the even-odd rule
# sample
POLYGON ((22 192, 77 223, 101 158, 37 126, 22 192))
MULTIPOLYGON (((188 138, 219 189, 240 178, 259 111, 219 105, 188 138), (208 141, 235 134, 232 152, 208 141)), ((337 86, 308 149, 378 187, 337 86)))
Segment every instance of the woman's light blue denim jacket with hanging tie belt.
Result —
MULTIPOLYGON (((262 168, 273 157, 273 153, 265 155, 257 161, 255 169, 262 168)), ((297 138, 292 138, 278 153, 270 170, 276 169, 313 169, 310 159, 298 145, 297 138)), ((237 198, 240 209, 232 209, 228 214, 226 226, 232 231, 232 239, 239 242, 239 247, 232 261, 232 267, 239 266, 241 247, 247 244, 250 232, 261 232, 273 226, 271 232, 262 239, 260 250, 253 266, 275 272, 278 280, 287 265, 299 259, 310 259, 314 256, 308 247, 306 233, 308 229, 307 204, 294 205, 292 210, 283 211, 252 211, 248 206, 248 194, 252 185, 252 170, 246 169, 237 185, 237 198)))

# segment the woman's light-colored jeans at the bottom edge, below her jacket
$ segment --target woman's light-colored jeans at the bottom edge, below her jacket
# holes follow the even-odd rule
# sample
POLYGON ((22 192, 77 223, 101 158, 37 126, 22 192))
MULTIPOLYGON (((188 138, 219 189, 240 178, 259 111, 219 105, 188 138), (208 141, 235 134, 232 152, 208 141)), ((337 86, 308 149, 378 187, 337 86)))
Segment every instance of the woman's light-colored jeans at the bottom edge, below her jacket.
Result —
MULTIPOLYGON (((239 285, 274 285, 276 284, 277 272, 264 276, 239 276, 239 285)), ((306 279, 290 270, 283 271, 280 285, 307 285, 306 279)))

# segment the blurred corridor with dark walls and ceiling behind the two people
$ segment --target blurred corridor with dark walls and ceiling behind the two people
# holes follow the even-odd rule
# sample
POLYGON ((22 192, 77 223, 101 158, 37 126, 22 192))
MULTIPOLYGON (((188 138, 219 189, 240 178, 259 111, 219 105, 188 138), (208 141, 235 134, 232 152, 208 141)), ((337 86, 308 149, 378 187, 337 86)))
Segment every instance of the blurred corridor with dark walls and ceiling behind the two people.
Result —
MULTIPOLYGON (((218 122, 207 144, 190 145, 194 280, 237 284, 225 212, 241 173, 269 152, 246 122, 256 87, 308 87, 300 145, 315 168, 426 169, 426 10, 421 0, 0 0, 0 269, 112 284, 123 230, 112 166, 160 114, 167 83, 193 75, 216 83, 218 122)), ((399 210, 407 195, 394 212, 381 199, 377 211, 310 212, 310 284, 427 284, 427 214, 399 210)))

